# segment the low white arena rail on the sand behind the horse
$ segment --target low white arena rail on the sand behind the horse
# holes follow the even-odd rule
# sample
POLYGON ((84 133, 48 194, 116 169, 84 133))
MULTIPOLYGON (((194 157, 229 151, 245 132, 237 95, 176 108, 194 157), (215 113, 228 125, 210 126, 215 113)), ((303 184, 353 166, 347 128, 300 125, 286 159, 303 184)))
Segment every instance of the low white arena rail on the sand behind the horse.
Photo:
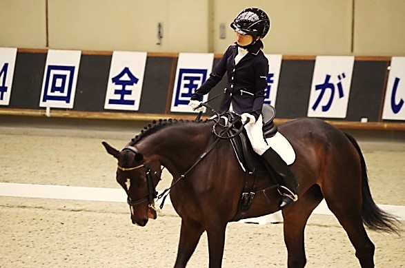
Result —
MULTIPOLYGON (((159 191, 158 191, 159 192, 159 191)), ((159 192, 160 194, 160 192, 159 192)), ((38 185, 26 183, 0 183, 0 196, 28 197, 28 198, 53 198, 69 200, 88 200, 101 202, 126 203, 126 194, 123 189, 99 188, 99 187, 78 187, 61 185, 38 185)), ((161 200, 157 200, 157 205, 161 200)), ((166 198, 165 205, 171 205, 170 197, 166 198)), ((379 205, 379 208, 395 215, 399 220, 405 220, 405 206, 401 205, 379 205)), ((325 200, 314 210, 314 214, 333 215, 328 209, 325 200)), ((281 222, 280 212, 239 220, 241 223, 266 223, 281 222)))

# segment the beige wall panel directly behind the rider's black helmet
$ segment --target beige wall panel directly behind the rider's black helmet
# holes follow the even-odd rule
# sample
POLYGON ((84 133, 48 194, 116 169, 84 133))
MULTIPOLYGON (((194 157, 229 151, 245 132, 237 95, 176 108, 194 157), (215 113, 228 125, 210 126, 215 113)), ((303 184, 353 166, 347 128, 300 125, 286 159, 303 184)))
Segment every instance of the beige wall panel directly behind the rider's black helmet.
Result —
MULTIPOLYGON (((227 25, 227 39, 215 39, 215 48, 224 49, 235 38, 228 25, 245 8, 246 2, 235 1, 233 8, 228 8, 226 0, 215 2, 215 10, 221 10, 221 13, 215 14, 214 30, 218 30, 220 22, 227 25)), ((350 54, 351 0, 251 1, 250 4, 266 10, 272 21, 270 32, 264 39, 265 52, 350 54)))

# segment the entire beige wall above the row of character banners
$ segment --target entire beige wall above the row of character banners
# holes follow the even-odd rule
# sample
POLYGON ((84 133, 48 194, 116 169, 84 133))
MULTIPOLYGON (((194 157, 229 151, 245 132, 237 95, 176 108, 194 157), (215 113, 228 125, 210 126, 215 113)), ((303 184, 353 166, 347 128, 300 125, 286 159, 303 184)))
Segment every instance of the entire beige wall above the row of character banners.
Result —
MULTIPOLYGON (((249 5, 263 8, 273 21, 267 53, 405 56, 403 0, 249 5)), ((222 53, 235 37, 229 24, 243 8, 244 0, 0 0, 0 24, 6 25, 0 46, 222 53), (226 25, 226 39, 219 39, 219 23, 226 25)))

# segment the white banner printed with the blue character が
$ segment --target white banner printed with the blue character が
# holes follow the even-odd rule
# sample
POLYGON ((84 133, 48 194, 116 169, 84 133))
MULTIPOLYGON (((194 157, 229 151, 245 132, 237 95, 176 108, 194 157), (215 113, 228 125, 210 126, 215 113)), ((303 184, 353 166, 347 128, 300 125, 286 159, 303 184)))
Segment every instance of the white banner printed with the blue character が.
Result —
POLYGON ((317 56, 308 117, 346 118, 354 56, 317 56))

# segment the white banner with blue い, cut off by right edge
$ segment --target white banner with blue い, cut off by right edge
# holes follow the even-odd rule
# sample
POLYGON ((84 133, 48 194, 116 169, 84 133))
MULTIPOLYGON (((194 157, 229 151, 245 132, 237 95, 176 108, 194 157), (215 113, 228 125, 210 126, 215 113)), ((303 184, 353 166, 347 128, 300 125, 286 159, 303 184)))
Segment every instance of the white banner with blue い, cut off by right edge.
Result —
POLYGON ((388 76, 383 119, 405 120, 405 56, 393 56, 388 76))

